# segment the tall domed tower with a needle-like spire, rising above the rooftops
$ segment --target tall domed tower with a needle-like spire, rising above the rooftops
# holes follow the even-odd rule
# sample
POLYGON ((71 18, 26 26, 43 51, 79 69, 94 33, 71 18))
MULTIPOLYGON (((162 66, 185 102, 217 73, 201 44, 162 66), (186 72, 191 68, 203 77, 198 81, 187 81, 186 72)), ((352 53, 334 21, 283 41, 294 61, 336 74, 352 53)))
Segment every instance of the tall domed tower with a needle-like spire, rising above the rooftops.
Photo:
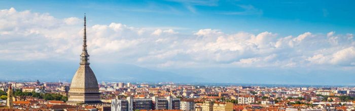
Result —
POLYGON ((100 103, 100 93, 94 72, 89 66, 89 54, 86 45, 86 16, 84 16, 83 51, 80 55, 80 66, 75 73, 68 93, 69 104, 100 103))

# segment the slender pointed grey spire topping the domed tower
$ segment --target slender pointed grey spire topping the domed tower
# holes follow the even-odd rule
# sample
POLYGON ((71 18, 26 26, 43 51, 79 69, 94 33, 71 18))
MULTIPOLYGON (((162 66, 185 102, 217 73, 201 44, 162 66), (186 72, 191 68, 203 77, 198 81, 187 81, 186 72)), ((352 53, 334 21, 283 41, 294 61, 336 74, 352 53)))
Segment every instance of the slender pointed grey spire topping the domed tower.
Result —
POLYGON ((89 65, 89 54, 86 45, 86 14, 84 13, 84 38, 83 38, 83 52, 81 53, 80 65, 89 65))

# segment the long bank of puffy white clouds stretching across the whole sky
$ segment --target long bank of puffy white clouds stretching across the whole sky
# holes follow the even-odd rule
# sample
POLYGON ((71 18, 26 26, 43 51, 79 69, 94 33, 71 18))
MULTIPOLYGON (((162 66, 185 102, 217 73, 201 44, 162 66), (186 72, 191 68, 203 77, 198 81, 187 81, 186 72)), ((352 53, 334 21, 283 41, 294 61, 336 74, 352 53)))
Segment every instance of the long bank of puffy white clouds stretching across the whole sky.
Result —
MULTIPOLYGON (((88 17, 87 19, 90 19, 88 17)), ((70 59, 81 51, 81 19, 49 14, 0 11, 0 59, 70 59)), ((179 29, 176 29, 179 30, 179 29)), ((179 33, 172 28, 139 28, 122 23, 87 26, 91 60, 154 67, 303 67, 353 66, 351 33, 225 33, 200 29, 179 33)))

